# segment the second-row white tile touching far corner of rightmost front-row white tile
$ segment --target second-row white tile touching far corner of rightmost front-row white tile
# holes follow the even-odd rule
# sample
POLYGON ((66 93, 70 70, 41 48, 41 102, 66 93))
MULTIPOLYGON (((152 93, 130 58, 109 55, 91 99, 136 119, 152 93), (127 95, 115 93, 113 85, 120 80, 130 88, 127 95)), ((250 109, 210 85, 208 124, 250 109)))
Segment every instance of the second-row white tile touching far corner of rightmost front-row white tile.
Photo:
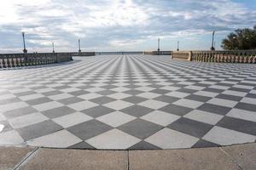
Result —
POLYGON ((184 115, 183 117, 198 121, 198 122, 205 122, 208 124, 215 125, 218 123, 224 116, 210 113, 207 111, 199 111, 199 110, 194 110, 190 111, 188 114, 184 115))

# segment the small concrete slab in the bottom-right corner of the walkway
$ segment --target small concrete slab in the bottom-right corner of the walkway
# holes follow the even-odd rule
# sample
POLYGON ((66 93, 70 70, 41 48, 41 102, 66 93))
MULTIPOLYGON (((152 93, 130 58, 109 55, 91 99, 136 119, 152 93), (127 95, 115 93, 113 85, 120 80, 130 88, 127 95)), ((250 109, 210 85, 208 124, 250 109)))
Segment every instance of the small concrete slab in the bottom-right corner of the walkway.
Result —
POLYGON ((256 169, 256 143, 222 148, 242 169, 256 169))

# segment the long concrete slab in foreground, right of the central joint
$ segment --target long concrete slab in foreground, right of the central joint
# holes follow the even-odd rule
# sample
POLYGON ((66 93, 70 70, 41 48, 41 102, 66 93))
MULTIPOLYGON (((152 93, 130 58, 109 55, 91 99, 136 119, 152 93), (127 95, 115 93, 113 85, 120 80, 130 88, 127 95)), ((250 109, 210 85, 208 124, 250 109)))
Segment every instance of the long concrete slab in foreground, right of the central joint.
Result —
POLYGON ((134 150, 129 152, 130 170, 239 170, 219 148, 189 150, 134 150))

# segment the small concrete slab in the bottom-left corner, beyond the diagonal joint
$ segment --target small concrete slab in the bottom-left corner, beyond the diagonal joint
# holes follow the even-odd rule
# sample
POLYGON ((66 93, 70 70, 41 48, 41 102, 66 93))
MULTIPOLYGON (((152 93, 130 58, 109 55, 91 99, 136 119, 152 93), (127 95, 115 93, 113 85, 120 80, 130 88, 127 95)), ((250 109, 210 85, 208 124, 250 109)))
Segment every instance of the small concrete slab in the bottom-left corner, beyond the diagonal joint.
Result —
POLYGON ((0 147, 0 170, 14 169, 32 150, 32 147, 0 147))

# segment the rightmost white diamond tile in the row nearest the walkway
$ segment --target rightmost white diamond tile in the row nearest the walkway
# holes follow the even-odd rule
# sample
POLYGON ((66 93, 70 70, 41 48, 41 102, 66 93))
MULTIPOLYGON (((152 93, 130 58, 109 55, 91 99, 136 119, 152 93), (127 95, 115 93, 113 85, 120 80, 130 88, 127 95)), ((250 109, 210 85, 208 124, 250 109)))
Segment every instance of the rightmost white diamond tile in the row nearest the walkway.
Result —
POLYGON ((213 127, 202 139, 221 145, 254 142, 256 137, 224 127, 213 127))

